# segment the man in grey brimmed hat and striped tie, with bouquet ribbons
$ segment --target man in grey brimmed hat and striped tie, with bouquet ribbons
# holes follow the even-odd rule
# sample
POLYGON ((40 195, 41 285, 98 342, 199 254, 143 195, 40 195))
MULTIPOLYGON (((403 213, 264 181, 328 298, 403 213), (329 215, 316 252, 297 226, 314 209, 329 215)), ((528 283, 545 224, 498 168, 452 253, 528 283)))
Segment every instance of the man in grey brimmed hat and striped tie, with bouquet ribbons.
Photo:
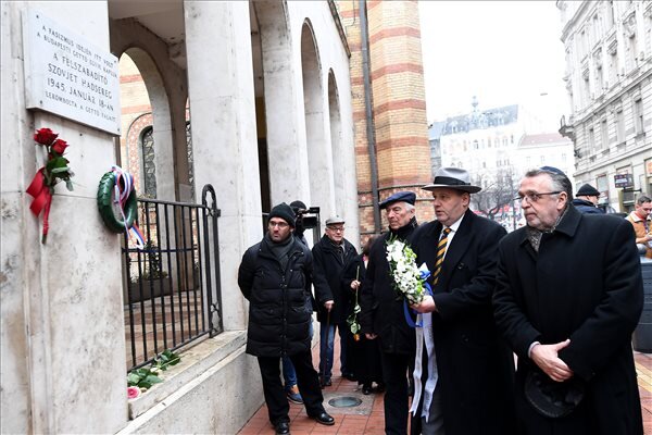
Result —
POLYGON ((423 327, 416 328, 412 433, 514 434, 514 360, 491 307, 505 229, 469 209, 480 187, 463 169, 438 170, 423 189, 432 192, 437 219, 413 236, 432 294, 413 306, 423 327))

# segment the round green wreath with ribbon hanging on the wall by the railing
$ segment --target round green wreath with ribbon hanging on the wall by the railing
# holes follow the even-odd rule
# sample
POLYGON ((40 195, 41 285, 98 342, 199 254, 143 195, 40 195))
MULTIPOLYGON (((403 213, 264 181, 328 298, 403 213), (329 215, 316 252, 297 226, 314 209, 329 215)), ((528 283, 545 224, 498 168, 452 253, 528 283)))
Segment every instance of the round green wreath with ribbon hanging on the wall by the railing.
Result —
POLYGON ((127 232, 136 237, 136 245, 141 249, 142 235, 135 221, 138 216, 134 176, 124 172, 120 166, 102 175, 98 186, 98 211, 104 225, 112 233, 127 232), (115 215, 114 204, 117 204, 121 216, 115 215))

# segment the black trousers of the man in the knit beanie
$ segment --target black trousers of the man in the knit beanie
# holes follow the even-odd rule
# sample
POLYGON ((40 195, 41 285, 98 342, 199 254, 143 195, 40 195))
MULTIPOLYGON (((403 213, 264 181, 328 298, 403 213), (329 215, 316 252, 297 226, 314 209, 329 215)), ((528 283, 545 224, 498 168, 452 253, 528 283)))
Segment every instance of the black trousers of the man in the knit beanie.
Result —
MULTIPOLYGON (((280 382, 280 358, 258 357, 258 360, 263 378, 263 393, 267 402, 269 421, 274 425, 281 421, 289 422, 290 406, 280 382)), ((299 385, 299 393, 303 398, 305 412, 310 417, 324 412, 324 396, 322 396, 317 372, 312 364, 311 351, 306 350, 302 353, 292 355, 290 360, 297 371, 297 385, 299 385)))

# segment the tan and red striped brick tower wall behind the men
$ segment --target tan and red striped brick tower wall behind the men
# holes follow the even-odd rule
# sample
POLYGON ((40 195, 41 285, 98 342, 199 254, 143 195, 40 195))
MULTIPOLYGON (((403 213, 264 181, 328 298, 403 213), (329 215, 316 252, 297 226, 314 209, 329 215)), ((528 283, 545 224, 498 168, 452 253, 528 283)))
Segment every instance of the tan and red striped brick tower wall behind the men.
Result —
MULTIPOLYGON (((364 79, 358 1, 338 1, 351 49, 351 90, 358 169, 360 231, 374 231, 372 177, 366 135, 364 79)), ((413 190, 421 222, 434 219, 427 192, 430 149, 426 120, 418 4, 416 1, 368 1, 368 37, 373 116, 380 200, 413 190)), ((383 226, 387 222, 383 221, 383 226)))

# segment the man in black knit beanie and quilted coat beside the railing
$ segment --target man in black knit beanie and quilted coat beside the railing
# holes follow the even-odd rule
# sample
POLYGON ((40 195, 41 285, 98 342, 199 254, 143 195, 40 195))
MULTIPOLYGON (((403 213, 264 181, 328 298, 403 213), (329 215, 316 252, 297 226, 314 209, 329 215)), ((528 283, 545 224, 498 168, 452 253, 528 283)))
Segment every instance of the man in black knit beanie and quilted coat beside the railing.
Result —
MULTIPOLYGON (((249 300, 247 353, 258 357, 269 421, 277 434, 289 434, 289 405, 280 382, 280 358, 288 356, 294 369, 299 390, 309 417, 333 425, 324 410, 317 372, 312 364, 312 311, 306 291, 313 274, 310 250, 292 236, 294 213, 280 203, 268 215, 267 233, 249 248, 238 270, 238 286, 249 300)), ((325 283, 316 278, 319 303, 333 303, 325 283)))

